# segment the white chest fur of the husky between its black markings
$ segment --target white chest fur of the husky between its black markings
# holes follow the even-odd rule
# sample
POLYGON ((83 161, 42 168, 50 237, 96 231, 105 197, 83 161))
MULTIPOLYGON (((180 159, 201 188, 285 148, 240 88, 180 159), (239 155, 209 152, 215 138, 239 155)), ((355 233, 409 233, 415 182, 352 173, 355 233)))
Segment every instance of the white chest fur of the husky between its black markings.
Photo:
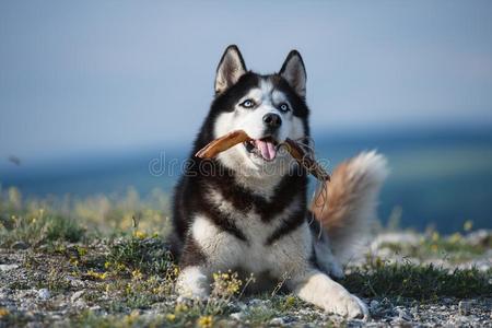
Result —
POLYGON ((191 232, 211 263, 210 270, 242 268, 251 273, 270 271, 282 276, 305 266, 312 250, 312 236, 306 223, 273 244, 267 243, 284 223, 283 220, 298 210, 298 198, 268 222, 259 218, 255 208, 247 213, 236 210, 215 190, 211 190, 210 200, 221 212, 227 214, 247 239, 241 241, 221 230, 209 218, 197 215, 191 232))

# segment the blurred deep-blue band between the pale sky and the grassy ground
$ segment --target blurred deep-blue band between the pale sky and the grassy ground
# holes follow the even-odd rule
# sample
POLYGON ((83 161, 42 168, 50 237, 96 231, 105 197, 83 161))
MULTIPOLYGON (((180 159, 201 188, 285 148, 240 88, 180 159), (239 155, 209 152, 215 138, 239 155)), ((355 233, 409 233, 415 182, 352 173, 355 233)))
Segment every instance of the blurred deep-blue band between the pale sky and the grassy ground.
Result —
MULTIPOLYGON (((68 157, 45 165, 21 164, 0 175, 0 190, 17 187, 24 198, 48 202, 98 197, 117 200, 125 199, 128 192, 145 198, 155 189, 171 196, 189 147, 68 157)), ((391 172, 379 201, 383 224, 397 218, 401 227, 420 231, 434 226, 442 233, 453 233, 465 222, 473 222, 476 229, 491 227, 491 130, 316 138, 317 157, 324 163, 328 160, 330 172, 341 161, 371 149, 388 159, 391 172)))

